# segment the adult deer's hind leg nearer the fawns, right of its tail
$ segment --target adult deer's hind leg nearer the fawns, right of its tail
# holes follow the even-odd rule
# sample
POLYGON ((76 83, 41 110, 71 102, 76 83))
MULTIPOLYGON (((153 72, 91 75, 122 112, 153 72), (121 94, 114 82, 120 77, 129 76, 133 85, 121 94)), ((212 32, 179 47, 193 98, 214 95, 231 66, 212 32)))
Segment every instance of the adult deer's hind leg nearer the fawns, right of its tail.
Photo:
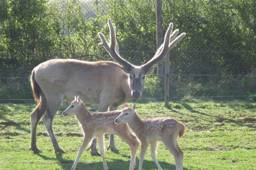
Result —
POLYGON ((55 153, 65 153, 65 151, 59 147, 58 142, 54 136, 53 129, 52 129, 53 119, 56 115, 56 112, 57 112, 58 107, 60 106, 60 103, 62 102, 62 100, 60 98, 58 98, 57 94, 56 95, 53 94, 51 97, 52 98, 46 99, 48 107, 47 107, 46 113, 44 114, 43 122, 46 127, 47 133, 52 141, 52 145, 54 147, 55 153))

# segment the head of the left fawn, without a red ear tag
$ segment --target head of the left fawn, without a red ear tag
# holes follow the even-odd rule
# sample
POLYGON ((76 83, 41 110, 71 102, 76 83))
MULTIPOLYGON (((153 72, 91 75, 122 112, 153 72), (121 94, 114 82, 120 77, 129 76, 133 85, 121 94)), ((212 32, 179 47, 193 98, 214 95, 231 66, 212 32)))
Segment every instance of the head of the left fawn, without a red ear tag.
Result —
POLYGON ((81 106, 83 105, 82 100, 80 100, 79 96, 75 96, 74 100, 71 102, 70 106, 66 110, 62 112, 63 116, 72 116, 76 115, 81 111, 81 106))

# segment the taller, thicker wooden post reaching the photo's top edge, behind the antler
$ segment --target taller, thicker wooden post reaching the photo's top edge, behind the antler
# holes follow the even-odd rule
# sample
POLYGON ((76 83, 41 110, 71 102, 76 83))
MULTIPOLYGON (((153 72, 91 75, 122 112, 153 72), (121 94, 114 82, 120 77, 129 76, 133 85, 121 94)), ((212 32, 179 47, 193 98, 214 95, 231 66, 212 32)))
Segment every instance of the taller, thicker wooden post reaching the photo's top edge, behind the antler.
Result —
MULTIPOLYGON (((162 45, 162 0, 156 0, 156 50, 162 45)), ((157 64, 157 77, 164 85, 164 61, 157 64)))

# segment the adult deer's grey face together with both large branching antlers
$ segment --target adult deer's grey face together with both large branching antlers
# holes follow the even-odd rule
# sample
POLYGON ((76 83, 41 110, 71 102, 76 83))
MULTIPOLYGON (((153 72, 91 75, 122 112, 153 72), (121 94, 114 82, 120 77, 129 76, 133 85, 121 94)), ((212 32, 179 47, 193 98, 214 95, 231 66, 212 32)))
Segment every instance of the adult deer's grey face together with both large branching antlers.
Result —
POLYGON ((126 74, 129 74, 128 82, 131 89, 131 95, 134 98, 138 98, 142 95, 142 89, 145 85, 146 74, 152 72, 152 66, 162 61, 162 59, 164 59, 169 51, 173 49, 174 46, 186 35, 186 33, 182 33, 178 37, 176 37, 179 30, 176 29, 172 32, 172 25, 173 24, 170 23, 164 36, 164 42, 158 48, 158 51, 156 51, 154 57, 152 57, 152 59, 150 59, 150 61, 148 61, 146 64, 140 66, 133 65, 120 56, 116 40, 116 27, 113 26, 110 19, 108 19, 108 26, 110 29, 110 44, 108 44, 105 36, 102 33, 98 33, 102 41, 102 43, 100 43, 99 45, 103 46, 106 51, 108 51, 114 61, 122 65, 122 70, 126 74))

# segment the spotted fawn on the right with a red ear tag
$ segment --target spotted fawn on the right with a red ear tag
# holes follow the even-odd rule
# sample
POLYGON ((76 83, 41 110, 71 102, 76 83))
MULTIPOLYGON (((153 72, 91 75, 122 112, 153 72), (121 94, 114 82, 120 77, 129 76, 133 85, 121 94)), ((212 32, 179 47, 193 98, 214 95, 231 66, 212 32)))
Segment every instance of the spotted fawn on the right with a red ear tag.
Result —
POLYGON ((158 141, 163 141, 166 148, 175 158, 176 170, 183 169, 183 152, 178 145, 178 135, 182 137, 185 133, 185 125, 170 117, 159 117, 154 119, 140 119, 133 107, 125 107, 121 114, 115 119, 115 123, 128 123, 141 142, 139 170, 142 170, 142 163, 148 145, 151 145, 151 156, 159 170, 162 170, 156 160, 158 141))

